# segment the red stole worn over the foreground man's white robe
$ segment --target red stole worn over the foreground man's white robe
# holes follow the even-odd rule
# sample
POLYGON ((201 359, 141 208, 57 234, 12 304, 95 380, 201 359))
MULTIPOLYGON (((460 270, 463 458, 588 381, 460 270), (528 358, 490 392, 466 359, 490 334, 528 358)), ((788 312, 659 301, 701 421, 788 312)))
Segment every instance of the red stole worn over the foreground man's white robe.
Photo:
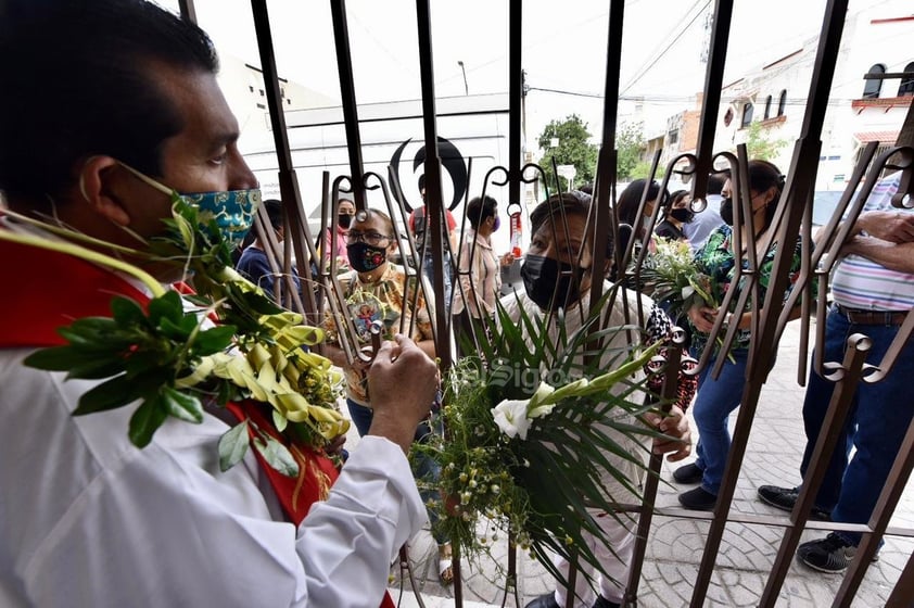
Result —
MULTIPOLYGON (((124 295, 145 307, 149 296, 124 278, 89 262, 0 239, 0 281, 8 291, 0 299, 0 347, 60 346, 66 341, 56 332, 81 317, 110 317, 111 300, 124 295), (12 288, 12 289, 10 289, 12 288)), ((183 291, 183 290, 181 290, 183 291)), ((297 479, 280 474, 257 454, 282 509, 299 525, 310 506, 327 497, 339 472, 322 454, 290 445, 254 402, 228 404, 239 419, 250 418, 261 430, 292 452, 302 471, 297 479)), ((253 433, 252 429, 252 433, 253 433)), ((384 594, 381 608, 393 608, 384 594)))

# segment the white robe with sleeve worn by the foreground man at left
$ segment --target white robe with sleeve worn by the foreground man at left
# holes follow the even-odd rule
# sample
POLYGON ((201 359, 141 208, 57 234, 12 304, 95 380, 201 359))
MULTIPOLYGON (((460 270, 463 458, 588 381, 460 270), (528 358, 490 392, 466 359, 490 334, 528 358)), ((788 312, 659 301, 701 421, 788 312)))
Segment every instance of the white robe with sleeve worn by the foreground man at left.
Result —
POLYGON ((0 352, 0 599, 64 608, 377 608, 426 512, 402 449, 365 438, 300 529, 249 454, 219 471, 226 426, 168 420, 140 451, 131 407, 73 417, 88 383, 0 352))

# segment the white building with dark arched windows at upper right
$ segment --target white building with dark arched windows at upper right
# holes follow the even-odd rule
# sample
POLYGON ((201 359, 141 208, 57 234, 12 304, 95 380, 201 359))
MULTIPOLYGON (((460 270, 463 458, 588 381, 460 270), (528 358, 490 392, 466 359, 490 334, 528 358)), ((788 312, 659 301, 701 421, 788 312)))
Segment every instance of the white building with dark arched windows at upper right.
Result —
MULTIPOLYGON (((849 12, 822 134, 817 190, 841 190, 862 148, 894 143, 914 96, 914 76, 864 79, 865 74, 914 72, 914 3, 886 0, 849 12)), ((787 142, 771 159, 787 169, 801 135, 817 38, 726 85, 714 150, 733 150, 760 122, 769 141, 787 142)))

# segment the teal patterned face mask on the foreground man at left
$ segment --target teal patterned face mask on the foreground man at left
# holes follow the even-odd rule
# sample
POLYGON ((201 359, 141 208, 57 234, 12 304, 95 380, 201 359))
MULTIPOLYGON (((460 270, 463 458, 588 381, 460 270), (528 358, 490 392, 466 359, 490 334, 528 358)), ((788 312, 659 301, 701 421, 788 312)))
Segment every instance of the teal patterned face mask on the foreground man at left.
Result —
POLYGON ((254 216, 261 205, 259 188, 219 192, 177 192, 134 167, 124 163, 120 163, 120 166, 160 192, 169 197, 177 197, 189 206, 194 207, 200 226, 204 231, 210 232, 211 225, 215 221, 218 235, 211 233, 211 236, 221 238, 228 243, 229 249, 240 246, 244 237, 251 230, 251 226, 254 225, 254 216))

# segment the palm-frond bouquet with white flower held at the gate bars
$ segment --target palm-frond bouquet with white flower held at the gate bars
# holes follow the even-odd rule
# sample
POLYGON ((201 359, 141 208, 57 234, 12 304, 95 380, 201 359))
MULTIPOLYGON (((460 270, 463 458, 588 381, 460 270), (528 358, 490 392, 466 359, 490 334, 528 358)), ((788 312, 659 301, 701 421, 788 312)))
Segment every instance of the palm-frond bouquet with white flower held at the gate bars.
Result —
POLYGON ((559 580, 550 552, 602 570, 584 537, 609 544, 593 515, 618 510, 608 478, 637 496, 637 481, 618 464, 645 469, 646 449, 631 445, 659 435, 636 420, 649 409, 643 370, 659 343, 631 340, 640 332, 634 326, 597 330, 599 309, 570 334, 559 312, 550 338, 549 321, 522 307, 515 318, 499 303, 491 342, 445 376, 446 438, 414 449, 441 466, 444 498, 430 508, 471 561, 510 533, 559 580))

